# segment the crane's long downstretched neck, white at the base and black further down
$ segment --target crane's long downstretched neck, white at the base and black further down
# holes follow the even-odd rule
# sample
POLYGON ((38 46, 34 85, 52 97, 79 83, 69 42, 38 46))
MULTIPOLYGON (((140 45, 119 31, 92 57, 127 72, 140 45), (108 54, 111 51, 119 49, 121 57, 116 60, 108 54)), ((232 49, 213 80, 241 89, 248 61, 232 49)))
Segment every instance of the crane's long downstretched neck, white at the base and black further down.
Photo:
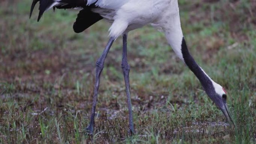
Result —
POLYGON ((172 8, 165 10, 158 21, 160 27, 164 30, 168 43, 171 45, 176 55, 188 65, 189 69, 199 79, 207 94, 214 92, 214 88, 218 84, 199 67, 187 48, 180 25, 178 1, 172 0, 169 7, 172 8))

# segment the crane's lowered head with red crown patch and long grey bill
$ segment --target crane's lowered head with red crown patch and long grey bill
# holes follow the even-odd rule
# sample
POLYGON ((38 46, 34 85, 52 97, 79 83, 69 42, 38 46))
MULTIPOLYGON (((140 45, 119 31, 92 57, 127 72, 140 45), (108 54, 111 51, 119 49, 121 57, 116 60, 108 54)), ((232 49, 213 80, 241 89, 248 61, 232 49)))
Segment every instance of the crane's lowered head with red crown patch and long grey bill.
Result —
POLYGON ((207 92, 208 96, 213 100, 213 102, 220 108, 220 110, 225 115, 230 125, 234 125, 232 117, 229 113, 228 105, 227 105, 227 94, 225 89, 217 83, 213 84, 215 92, 207 92))

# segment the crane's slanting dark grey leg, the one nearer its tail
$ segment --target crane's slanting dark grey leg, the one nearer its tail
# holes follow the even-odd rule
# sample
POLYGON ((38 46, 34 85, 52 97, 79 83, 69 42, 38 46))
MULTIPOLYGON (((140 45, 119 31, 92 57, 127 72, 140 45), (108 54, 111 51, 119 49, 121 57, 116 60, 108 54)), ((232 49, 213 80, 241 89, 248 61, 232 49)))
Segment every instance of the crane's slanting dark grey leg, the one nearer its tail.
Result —
POLYGON ((107 57, 107 53, 109 52, 109 49, 112 46, 114 41, 115 41, 115 38, 110 37, 110 40, 107 43, 106 48, 104 49, 104 51, 101 54, 100 58, 96 62, 96 74, 95 74, 94 94, 93 94, 93 102, 92 102, 90 123, 89 123, 89 126, 86 128, 86 131, 89 134, 93 133, 95 108, 96 108, 98 90, 99 90, 99 85, 100 85, 100 73, 103 70, 104 61, 105 61, 105 59, 107 57))

